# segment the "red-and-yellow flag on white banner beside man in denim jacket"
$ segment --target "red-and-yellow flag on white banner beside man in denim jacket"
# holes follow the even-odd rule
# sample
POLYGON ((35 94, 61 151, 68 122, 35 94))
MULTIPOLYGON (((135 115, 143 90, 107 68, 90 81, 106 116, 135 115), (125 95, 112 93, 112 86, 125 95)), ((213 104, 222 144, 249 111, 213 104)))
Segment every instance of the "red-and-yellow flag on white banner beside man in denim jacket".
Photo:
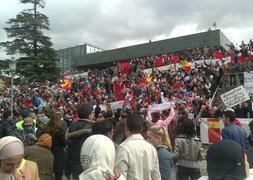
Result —
POLYGON ((221 127, 219 119, 207 119, 208 140, 210 144, 221 141, 221 127))

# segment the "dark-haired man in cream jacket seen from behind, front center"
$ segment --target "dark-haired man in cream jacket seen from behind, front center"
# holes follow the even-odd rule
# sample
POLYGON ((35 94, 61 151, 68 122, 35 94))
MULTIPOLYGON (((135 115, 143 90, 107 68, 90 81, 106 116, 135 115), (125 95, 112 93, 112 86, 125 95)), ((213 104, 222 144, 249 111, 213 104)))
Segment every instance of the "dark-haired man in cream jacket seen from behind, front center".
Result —
POLYGON ((143 122, 139 113, 128 114, 127 139, 119 145, 116 165, 127 180, 160 180, 156 149, 141 135, 143 122))

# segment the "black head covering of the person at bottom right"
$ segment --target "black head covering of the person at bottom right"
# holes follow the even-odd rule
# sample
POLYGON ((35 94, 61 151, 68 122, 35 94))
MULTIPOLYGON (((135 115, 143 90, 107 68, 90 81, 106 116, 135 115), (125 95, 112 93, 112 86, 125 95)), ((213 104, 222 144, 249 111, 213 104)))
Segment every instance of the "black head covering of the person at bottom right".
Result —
POLYGON ((232 140, 212 144, 207 151, 207 172, 211 180, 225 177, 245 178, 244 151, 232 140))

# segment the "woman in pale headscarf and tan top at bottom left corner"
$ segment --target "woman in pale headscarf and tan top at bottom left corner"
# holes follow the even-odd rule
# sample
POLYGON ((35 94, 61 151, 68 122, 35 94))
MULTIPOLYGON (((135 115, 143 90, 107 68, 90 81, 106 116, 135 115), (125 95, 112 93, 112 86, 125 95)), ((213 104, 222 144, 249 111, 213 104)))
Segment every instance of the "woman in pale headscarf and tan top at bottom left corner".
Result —
POLYGON ((23 159, 24 145, 16 137, 0 139, 0 179, 40 180, 37 164, 23 159))

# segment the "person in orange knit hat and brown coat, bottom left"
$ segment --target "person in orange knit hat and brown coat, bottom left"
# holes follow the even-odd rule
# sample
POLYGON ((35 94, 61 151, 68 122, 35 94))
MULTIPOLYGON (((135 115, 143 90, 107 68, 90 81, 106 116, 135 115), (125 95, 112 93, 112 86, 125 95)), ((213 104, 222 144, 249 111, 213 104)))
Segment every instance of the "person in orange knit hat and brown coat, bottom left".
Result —
POLYGON ((33 146, 25 147, 24 158, 37 163, 42 180, 53 179, 54 155, 51 152, 52 137, 42 134, 33 146))

